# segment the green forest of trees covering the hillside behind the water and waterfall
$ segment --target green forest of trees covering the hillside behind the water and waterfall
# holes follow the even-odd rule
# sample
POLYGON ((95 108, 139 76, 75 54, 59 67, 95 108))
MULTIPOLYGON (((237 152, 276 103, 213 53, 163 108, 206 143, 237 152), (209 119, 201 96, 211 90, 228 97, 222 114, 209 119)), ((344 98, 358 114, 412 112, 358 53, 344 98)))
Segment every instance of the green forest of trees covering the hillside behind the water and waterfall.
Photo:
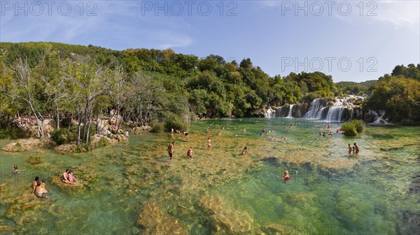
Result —
POLYGON ((199 59, 171 49, 0 43, 0 52, 0 128, 15 128, 20 114, 37 123, 49 116, 57 128, 71 117, 78 121, 78 143, 89 141, 91 124, 111 109, 122 116, 119 126, 153 126, 183 116, 263 116, 268 106, 367 93, 364 109, 385 110, 396 123, 420 121, 420 64, 396 66, 378 80, 335 84, 320 72, 270 77, 249 58, 199 59))

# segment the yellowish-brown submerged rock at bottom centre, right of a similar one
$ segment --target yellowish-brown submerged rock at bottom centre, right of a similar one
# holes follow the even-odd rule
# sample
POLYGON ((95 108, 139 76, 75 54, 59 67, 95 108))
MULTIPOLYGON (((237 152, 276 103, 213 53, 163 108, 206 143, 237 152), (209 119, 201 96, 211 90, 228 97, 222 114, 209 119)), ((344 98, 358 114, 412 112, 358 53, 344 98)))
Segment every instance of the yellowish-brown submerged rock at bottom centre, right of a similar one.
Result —
POLYGON ((246 211, 229 209, 218 196, 203 195, 197 202, 216 232, 244 233, 251 230, 253 219, 246 211))

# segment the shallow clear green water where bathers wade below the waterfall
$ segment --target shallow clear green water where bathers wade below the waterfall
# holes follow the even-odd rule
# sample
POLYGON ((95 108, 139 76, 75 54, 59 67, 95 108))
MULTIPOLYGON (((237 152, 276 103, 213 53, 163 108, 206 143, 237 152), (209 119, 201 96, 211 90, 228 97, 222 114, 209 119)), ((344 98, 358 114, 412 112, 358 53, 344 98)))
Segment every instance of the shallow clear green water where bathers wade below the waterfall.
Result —
POLYGON ((318 128, 330 131, 325 125, 304 119, 211 120, 193 123, 189 137, 130 136, 128 144, 89 153, 1 151, 0 225, 22 234, 135 234, 139 208, 155 199, 190 234, 209 234, 197 201, 212 195, 223 199, 227 214, 251 216, 247 234, 274 224, 283 234, 417 234, 419 225, 409 219, 420 214, 420 197, 409 185, 420 176, 419 128, 368 126, 357 137, 344 137, 332 123, 334 136, 320 137, 318 128), (295 128, 280 128, 290 123, 295 128), (262 128, 275 132, 260 135, 262 128), (175 158, 169 163, 172 140, 175 158), (346 145, 353 142, 360 146, 358 156, 347 155, 346 145), (186 158, 190 146, 193 159, 186 158), (250 152, 245 156, 239 154, 244 146, 250 152), (43 163, 30 165, 29 156, 41 156, 43 163), (15 164, 25 171, 11 174, 15 164), (53 184, 50 176, 66 168, 89 184, 82 190, 53 184), (280 179, 286 169, 289 183, 280 179), (46 179, 50 199, 22 206, 19 197, 30 192, 34 176, 46 179))

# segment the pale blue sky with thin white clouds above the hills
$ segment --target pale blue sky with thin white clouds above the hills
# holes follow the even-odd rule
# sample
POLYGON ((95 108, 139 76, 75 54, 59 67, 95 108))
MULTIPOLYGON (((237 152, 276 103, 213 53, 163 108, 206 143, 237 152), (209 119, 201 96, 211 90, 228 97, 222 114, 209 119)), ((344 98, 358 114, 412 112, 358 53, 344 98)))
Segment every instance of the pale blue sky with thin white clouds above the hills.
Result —
POLYGON ((420 1, 5 1, 2 42, 172 48, 363 82, 420 63, 420 1))

